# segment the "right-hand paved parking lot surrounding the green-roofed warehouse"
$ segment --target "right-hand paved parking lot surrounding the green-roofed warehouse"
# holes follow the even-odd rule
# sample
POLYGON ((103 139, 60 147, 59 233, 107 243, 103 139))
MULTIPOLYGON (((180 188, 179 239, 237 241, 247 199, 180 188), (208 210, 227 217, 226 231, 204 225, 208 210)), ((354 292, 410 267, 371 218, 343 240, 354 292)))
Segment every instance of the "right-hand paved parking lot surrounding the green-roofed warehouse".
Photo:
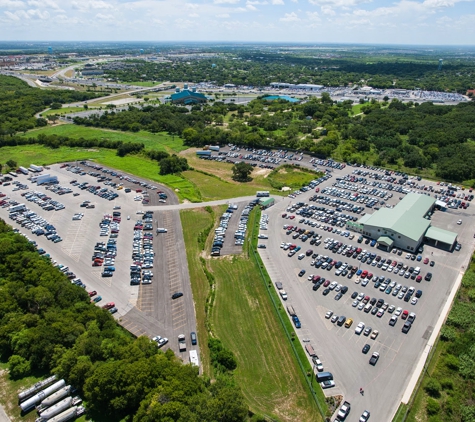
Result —
MULTIPOLYGON (((355 171, 357 169, 351 166, 334 169, 331 172, 332 177, 318 186, 318 193, 315 192, 315 189, 311 189, 308 192, 295 195, 294 198, 279 201, 275 206, 266 210, 269 215, 269 227, 265 233, 269 235, 269 239, 260 240, 260 243, 266 243, 266 248, 259 249, 259 252, 272 280, 281 282, 287 293, 288 299, 283 301, 283 306, 291 305, 298 315, 301 328, 296 328, 295 332, 302 345, 311 344, 323 364, 323 370, 333 374, 336 385, 324 390, 325 394, 341 394, 345 400, 351 403, 351 416, 348 420, 357 420, 364 410, 371 412, 372 419, 390 420, 399 406, 404 390, 451 289, 470 259, 474 246, 474 213, 471 207, 449 207, 446 211, 435 211, 432 216, 434 226, 458 233, 458 242, 461 244, 460 251, 448 252, 424 246, 423 252, 415 254, 411 259, 412 254, 408 255, 407 251, 401 251, 400 254, 398 254, 398 250, 395 250, 394 253, 393 251, 387 252, 371 246, 369 240, 366 239, 362 243, 358 243, 359 234, 349 230, 346 222, 353 221, 353 217, 360 218, 364 212, 374 212, 375 207, 392 207, 405 196, 406 192, 370 186, 371 191, 379 189, 380 192, 375 191, 371 194, 370 192, 360 192, 360 195, 368 195, 368 198, 362 198, 364 200, 361 203, 349 201, 349 208, 344 208, 341 206, 343 200, 340 203, 334 202, 340 197, 331 195, 330 189, 337 188, 333 186, 340 183, 336 180, 337 178, 343 179, 348 176, 350 179, 355 171), (384 195, 382 195, 383 190, 386 191, 384 195), (391 193, 392 195, 390 195, 391 193), (318 199, 319 196, 325 198, 318 199), (372 203, 369 196, 375 199, 373 209, 366 207, 366 204, 372 203), (314 200, 310 201, 312 197, 314 200), (383 204, 380 201, 383 201, 383 204), (298 202, 321 209, 314 210, 315 213, 312 217, 304 218, 299 214, 305 206, 292 208, 292 205, 298 202), (363 212, 353 211, 353 207, 361 204, 363 204, 363 212), (282 216, 285 214, 286 216, 283 218, 282 216), (457 224, 458 220, 462 220, 460 225, 457 224), (300 234, 298 237, 296 236, 296 231, 289 231, 288 227, 283 229, 284 225, 305 229, 310 233, 313 231, 314 234, 309 235, 307 240, 302 240, 300 234), (330 230, 329 227, 332 229, 330 230), (345 235, 345 232, 348 234, 345 235), (354 235, 353 239, 350 239, 351 235, 354 235), (326 246, 332 244, 329 239, 333 239, 333 244, 341 242, 342 245, 331 250, 326 246), (312 245, 311 241, 313 241, 312 245), (317 245, 317 243, 319 244, 317 245), (295 245, 295 249, 300 246, 300 250, 289 257, 290 249, 287 249, 285 244, 295 245), (346 249, 345 245, 347 245, 346 249), (361 253, 351 253, 348 256, 346 252, 349 252, 350 247, 361 248, 361 253), (309 250, 311 253, 306 253, 309 250), (367 257, 362 258, 365 251, 367 257), (374 258, 370 254, 374 254, 374 258), (418 255, 420 258, 417 258, 418 255), (328 267, 331 270, 328 270, 328 267, 322 269, 323 265, 320 265, 319 268, 316 268, 315 264, 311 265, 312 261, 314 263, 326 261, 325 257, 330 261, 328 267), (386 260, 386 265, 381 264, 383 260, 386 260), (331 262, 336 264, 338 261, 342 263, 342 267, 336 271, 337 268, 332 266, 331 262), (393 261, 396 261, 396 268, 397 264, 401 265, 401 269, 407 265, 407 270, 402 273, 400 270, 397 270, 397 273, 388 272, 393 261), (434 262, 433 267, 430 265, 430 261, 434 262), (345 266, 344 263, 348 267, 355 267, 353 270, 355 273, 351 278, 348 278, 351 271, 341 272, 341 268, 345 266), (413 273, 409 273, 410 267, 416 266, 420 267, 422 278, 420 281, 416 279, 415 275, 412 277, 413 273), (301 270, 305 270, 305 274, 299 277, 301 270), (372 273, 371 279, 365 280, 363 271, 372 273), (430 281, 426 281, 425 278, 429 272, 432 273, 432 278, 430 281), (358 273, 360 276, 356 275, 358 273), (327 290, 332 286, 331 284, 325 286, 323 283, 314 290, 315 284, 309 280, 311 275, 325 278, 330 283, 336 283, 333 284, 332 290, 327 290), (383 283, 378 280, 381 277, 385 277, 383 283), (384 287, 381 290, 388 278, 391 281, 385 286, 389 287, 392 283, 393 288, 384 287), (335 285, 340 286, 335 287, 335 285), (398 285, 399 290, 395 293, 398 285), (346 290, 344 286, 348 288, 346 293, 342 293, 346 290), (375 286, 377 287, 375 288, 375 286), (410 287, 414 288, 414 293, 406 302, 404 296, 410 287), (406 292, 401 295, 405 289, 407 289, 406 292), (325 290, 327 290, 326 294, 323 293, 325 290), (418 294, 420 297, 415 303, 413 299, 418 290, 420 290, 418 294), (357 298, 351 297, 355 292, 361 293, 362 296, 362 300, 356 303, 354 301, 357 298), (341 298, 335 300, 339 293, 342 293, 341 298), (360 306, 361 310, 359 309, 359 304, 365 300, 365 297, 367 297, 369 305, 373 303, 368 312, 365 312, 362 306, 360 306), (376 301, 379 299, 381 304, 376 307, 376 301), (380 312, 378 317, 376 313, 384 308, 384 312, 380 312), (398 310, 398 308, 400 309, 398 310), (346 320, 351 318, 351 326, 346 328, 344 324, 340 326, 336 322, 331 322, 331 318, 326 318, 328 311, 333 312, 332 316, 344 316, 346 320), (403 311, 415 314, 415 320, 407 333, 402 332, 402 327, 407 321, 403 320, 403 311), (391 326, 389 324, 391 317, 396 316, 399 312, 400 315, 393 318, 394 326, 391 326), (361 334, 357 334, 355 329, 360 322, 364 324, 364 329, 371 327, 372 333, 377 330, 377 337, 371 338, 370 333, 365 335, 364 330, 361 334), (369 345, 369 351, 364 354, 362 349, 366 344, 369 345), (379 361, 375 366, 369 364, 373 352, 380 353, 379 361), (360 388, 363 388, 364 395, 360 394, 360 388)), ((377 170, 368 171, 373 173, 372 176, 367 175, 367 179, 371 183, 375 180, 375 174, 379 173, 384 176, 384 173, 377 170)), ((436 190, 441 190, 441 187, 434 182, 411 180, 414 180, 412 186, 404 185, 403 187, 407 192, 412 190, 435 196, 436 190)), ((342 187, 339 189, 352 194, 362 187, 368 189, 368 186, 362 182, 349 183, 353 183, 356 190, 342 187)), ((378 181, 378 183, 384 183, 384 181, 378 181)), ((399 185, 393 184, 393 186, 398 187, 399 185)), ((440 196, 441 193, 437 195, 440 196)), ((394 270, 396 271, 396 269, 394 270)), ((309 361, 312 362, 310 357, 309 361)), ((315 373, 317 373, 316 369, 315 373)))

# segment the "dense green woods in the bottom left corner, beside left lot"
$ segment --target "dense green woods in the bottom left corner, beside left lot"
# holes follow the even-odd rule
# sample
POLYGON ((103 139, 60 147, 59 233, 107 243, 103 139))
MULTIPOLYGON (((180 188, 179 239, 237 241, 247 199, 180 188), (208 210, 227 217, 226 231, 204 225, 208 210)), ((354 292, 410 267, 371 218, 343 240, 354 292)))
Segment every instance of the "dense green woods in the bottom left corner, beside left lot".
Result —
POLYGON ((246 419, 232 354, 216 352, 223 371, 211 384, 171 350, 132 338, 1 220, 0 278, 0 357, 11 378, 57 374, 78 389, 94 420, 246 419))

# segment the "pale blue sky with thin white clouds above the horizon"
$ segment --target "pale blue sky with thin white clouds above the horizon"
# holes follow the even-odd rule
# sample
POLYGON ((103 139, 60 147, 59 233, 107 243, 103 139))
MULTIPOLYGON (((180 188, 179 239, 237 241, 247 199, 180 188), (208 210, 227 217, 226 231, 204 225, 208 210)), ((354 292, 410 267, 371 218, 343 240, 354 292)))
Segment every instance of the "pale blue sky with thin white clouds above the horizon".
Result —
POLYGON ((2 41, 474 45, 475 0, 0 0, 2 41))

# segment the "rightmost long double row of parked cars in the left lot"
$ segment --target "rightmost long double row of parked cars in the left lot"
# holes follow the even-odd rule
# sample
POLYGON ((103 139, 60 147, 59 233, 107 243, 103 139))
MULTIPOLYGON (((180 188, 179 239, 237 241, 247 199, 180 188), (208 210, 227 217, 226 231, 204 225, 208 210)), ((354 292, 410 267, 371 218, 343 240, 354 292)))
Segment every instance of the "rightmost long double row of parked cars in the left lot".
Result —
POLYGON ((151 284, 153 279, 153 211, 146 211, 134 225, 130 284, 151 284))

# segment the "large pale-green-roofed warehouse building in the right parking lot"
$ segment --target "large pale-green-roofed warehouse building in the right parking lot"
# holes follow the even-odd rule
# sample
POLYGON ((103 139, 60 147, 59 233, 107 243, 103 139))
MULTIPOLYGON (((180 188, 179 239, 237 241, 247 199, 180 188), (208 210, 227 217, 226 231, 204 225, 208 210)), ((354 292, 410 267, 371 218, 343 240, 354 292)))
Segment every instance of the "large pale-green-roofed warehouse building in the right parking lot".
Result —
POLYGON ((422 242, 451 250, 457 233, 431 227, 426 218, 434 209, 435 199, 427 195, 409 193, 394 208, 382 208, 366 214, 348 228, 378 242, 386 250, 399 248, 410 252, 418 250, 422 242))

